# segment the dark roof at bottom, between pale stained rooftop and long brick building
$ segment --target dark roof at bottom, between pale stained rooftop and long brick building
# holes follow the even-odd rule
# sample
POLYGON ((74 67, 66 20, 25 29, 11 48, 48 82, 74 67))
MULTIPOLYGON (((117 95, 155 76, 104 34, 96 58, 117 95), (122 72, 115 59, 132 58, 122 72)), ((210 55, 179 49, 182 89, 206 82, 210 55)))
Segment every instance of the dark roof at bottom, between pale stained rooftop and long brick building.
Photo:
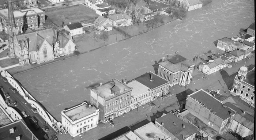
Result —
POLYGON ((182 135, 188 137, 197 132, 196 126, 180 120, 180 118, 177 118, 173 113, 167 113, 165 116, 157 118, 156 121, 159 124, 163 123, 163 127, 167 129, 170 133, 172 133, 175 137, 177 137, 179 140, 183 140, 182 135), (173 123, 175 123, 176 125, 174 125, 173 123), (185 128, 183 128, 183 125, 185 125, 185 128))

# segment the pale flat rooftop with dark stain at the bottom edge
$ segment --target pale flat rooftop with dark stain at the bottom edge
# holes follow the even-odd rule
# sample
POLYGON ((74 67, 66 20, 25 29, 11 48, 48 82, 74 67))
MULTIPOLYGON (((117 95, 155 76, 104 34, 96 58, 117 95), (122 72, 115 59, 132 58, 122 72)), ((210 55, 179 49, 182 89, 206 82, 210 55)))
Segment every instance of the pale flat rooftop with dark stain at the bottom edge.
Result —
POLYGON ((136 130, 133 131, 136 135, 139 135, 143 140, 155 140, 154 138, 158 137, 159 139, 166 140, 169 138, 165 133, 161 131, 157 126, 150 122, 136 130))

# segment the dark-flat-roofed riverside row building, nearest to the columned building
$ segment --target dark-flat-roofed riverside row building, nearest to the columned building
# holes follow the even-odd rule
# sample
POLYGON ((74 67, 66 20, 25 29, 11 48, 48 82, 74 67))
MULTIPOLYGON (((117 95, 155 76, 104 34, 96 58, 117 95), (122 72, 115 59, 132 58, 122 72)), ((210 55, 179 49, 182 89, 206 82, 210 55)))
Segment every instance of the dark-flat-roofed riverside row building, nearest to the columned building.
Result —
MULTIPOLYGON (((149 88, 148 93, 150 95, 150 100, 153 101, 163 95, 166 95, 169 92, 169 81, 163 79, 162 77, 155 75, 153 72, 147 72, 139 77, 136 77, 134 80, 142 83, 149 88)), ((146 93, 147 95, 147 93, 146 93)), ((147 102, 148 97, 143 95, 143 98, 140 98, 141 101, 147 102)))

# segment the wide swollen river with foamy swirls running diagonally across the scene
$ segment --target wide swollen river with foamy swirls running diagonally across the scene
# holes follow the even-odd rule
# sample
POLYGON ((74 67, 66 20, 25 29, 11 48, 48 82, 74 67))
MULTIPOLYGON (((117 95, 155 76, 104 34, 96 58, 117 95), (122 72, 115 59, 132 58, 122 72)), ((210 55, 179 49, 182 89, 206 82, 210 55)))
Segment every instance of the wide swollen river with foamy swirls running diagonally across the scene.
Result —
POLYGON ((209 50, 215 52, 214 41, 236 36, 254 22, 254 8, 254 0, 213 0, 189 11, 184 20, 15 78, 60 121, 62 110, 90 101, 87 87, 91 84, 154 72, 154 61, 175 51, 190 60, 209 50))

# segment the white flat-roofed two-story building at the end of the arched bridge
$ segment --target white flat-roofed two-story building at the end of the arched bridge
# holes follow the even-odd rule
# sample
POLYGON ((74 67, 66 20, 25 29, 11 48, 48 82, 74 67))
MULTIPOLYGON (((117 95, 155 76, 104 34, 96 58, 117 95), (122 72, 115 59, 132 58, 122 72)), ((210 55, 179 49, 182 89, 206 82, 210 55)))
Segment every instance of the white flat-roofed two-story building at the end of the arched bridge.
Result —
POLYGON ((61 123, 72 137, 97 127, 98 121, 99 109, 86 102, 61 111, 61 123))

